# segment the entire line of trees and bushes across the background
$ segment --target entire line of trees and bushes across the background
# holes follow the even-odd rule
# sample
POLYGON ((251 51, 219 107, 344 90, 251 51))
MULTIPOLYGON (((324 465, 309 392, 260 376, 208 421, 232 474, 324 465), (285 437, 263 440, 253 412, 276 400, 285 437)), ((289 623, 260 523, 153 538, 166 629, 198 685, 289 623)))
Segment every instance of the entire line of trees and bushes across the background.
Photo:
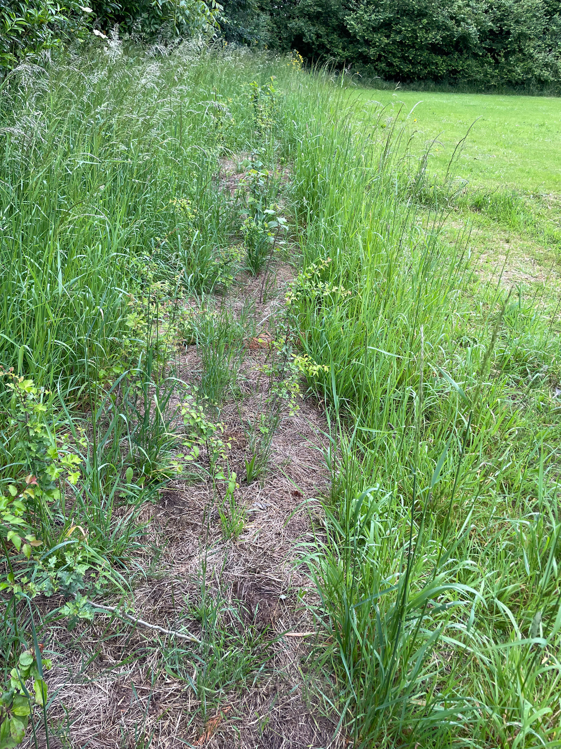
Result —
POLYGON ((117 25, 139 41, 202 34, 296 50, 366 78, 561 89, 559 0, 80 1, 0 0, 0 77, 117 25))

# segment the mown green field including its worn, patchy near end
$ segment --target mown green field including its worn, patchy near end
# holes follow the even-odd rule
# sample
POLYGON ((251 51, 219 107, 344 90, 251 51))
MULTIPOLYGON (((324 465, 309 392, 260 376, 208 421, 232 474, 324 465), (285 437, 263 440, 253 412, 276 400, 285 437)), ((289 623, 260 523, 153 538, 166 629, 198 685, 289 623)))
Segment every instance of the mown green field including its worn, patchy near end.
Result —
POLYGON ((473 251, 491 265, 510 258, 513 280, 541 277, 536 261, 560 263, 558 98, 358 91, 350 99, 359 118, 375 113, 382 132, 402 133, 396 153, 406 144, 410 169, 426 156, 426 185, 446 182, 439 195, 451 210, 444 232, 452 240, 468 229, 473 251))

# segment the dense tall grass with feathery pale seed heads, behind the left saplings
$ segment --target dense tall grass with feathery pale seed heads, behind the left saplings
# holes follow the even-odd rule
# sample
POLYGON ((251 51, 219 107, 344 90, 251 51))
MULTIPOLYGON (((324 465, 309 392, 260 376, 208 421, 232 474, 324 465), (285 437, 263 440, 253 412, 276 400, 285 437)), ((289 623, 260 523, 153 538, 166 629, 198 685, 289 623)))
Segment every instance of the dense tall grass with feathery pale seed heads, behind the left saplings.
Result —
POLYGON ((73 392, 86 359, 120 357, 128 295, 150 272, 171 291, 212 284, 239 228, 216 184, 226 144, 215 103, 229 113, 227 148, 251 149, 244 84, 268 72, 186 48, 173 60, 101 52, 12 74, 0 105, 5 366, 73 392))

